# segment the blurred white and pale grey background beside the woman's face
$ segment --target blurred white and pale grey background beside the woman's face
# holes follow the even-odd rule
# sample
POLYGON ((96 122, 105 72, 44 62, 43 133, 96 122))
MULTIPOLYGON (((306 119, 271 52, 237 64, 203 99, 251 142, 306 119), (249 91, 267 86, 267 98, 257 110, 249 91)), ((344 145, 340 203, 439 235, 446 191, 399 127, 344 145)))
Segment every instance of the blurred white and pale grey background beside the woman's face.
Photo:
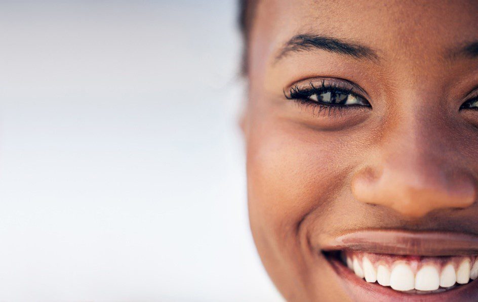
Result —
POLYGON ((0 2, 0 300, 281 301, 235 0, 0 2))

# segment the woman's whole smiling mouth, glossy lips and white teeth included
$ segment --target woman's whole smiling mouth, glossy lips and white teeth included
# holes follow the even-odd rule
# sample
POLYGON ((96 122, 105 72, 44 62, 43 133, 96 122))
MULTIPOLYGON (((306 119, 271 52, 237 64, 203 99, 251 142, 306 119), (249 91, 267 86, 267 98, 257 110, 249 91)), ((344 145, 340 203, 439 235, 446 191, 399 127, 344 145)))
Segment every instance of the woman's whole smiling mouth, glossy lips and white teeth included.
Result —
POLYGON ((458 233, 359 231, 321 252, 354 296, 390 300, 478 298, 478 237, 458 233))

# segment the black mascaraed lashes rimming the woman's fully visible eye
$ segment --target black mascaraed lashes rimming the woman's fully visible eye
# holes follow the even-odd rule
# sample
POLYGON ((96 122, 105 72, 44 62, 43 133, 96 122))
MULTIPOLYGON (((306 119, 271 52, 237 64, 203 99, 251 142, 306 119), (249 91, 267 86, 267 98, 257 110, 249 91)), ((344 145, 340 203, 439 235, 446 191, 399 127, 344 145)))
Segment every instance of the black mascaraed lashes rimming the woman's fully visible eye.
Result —
POLYGON ((315 109, 318 109, 318 113, 321 113, 324 110, 329 110, 328 115, 336 115, 339 113, 342 114, 343 110, 349 110, 348 108, 371 108, 370 103, 362 96, 357 95, 352 92, 352 89, 344 89, 339 87, 337 83, 326 83, 325 80, 321 81, 320 87, 315 87, 312 82, 309 82, 309 87, 301 88, 299 85, 294 85, 289 89, 289 95, 286 94, 284 90, 284 96, 288 100, 295 101, 299 105, 303 106, 311 106, 313 109, 313 115, 315 115, 315 109), (344 94, 344 95, 351 95, 355 98, 361 99, 365 101, 368 106, 366 105, 359 105, 359 104, 352 104, 352 105, 341 105, 341 104, 334 104, 334 103, 325 103, 321 101, 314 101, 311 100, 310 97, 314 95, 321 95, 324 93, 335 93, 335 94, 344 94))

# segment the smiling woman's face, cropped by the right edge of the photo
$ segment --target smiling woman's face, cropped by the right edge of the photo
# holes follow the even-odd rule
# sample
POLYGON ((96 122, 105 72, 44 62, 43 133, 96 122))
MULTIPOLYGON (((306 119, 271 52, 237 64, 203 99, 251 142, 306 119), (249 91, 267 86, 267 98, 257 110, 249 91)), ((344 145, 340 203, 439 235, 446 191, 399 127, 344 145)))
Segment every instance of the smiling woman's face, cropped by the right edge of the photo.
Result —
POLYGON ((478 300, 477 16, 473 0, 260 1, 249 213, 286 299, 478 300))

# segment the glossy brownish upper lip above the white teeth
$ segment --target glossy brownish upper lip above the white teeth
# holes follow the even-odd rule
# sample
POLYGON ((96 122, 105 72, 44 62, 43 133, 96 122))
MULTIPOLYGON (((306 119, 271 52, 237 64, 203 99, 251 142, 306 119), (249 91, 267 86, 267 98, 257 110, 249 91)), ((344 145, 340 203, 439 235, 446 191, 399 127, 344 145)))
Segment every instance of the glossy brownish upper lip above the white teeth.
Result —
POLYGON ((478 236, 455 232, 361 230, 328 238, 321 249, 423 256, 476 255, 478 236))

